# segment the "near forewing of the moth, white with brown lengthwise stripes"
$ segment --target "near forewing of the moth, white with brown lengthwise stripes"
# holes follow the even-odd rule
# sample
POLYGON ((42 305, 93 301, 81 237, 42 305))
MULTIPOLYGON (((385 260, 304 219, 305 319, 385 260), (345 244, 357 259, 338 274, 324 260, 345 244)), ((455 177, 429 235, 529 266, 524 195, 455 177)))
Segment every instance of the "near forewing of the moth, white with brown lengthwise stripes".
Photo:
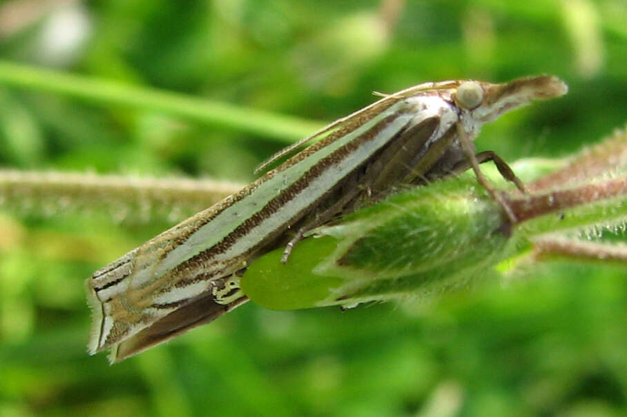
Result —
MULTIPOLYGON (((208 291, 315 207, 326 192, 410 123, 403 99, 384 99, 240 192, 156 236, 89 280, 90 352, 129 338, 208 291)), ((431 115, 432 116, 432 115, 431 115)))

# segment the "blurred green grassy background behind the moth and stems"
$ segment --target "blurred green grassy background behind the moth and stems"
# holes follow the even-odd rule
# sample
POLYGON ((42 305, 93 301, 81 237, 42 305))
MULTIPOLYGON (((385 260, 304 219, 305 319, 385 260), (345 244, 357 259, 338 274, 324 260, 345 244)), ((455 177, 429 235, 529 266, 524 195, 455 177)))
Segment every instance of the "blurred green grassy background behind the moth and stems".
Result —
MULTIPOLYGON (((291 115, 302 132, 373 90, 562 77, 568 96, 483 130, 479 150, 513 161, 624 126, 626 21, 624 0, 4 1, 0 59, 291 115)), ((2 168, 244 182, 291 138, 2 77, 2 168)), ((418 305, 248 303, 118 365, 87 356, 84 279, 168 225, 0 212, 1 417, 627 414, 627 272, 601 265, 418 305)))

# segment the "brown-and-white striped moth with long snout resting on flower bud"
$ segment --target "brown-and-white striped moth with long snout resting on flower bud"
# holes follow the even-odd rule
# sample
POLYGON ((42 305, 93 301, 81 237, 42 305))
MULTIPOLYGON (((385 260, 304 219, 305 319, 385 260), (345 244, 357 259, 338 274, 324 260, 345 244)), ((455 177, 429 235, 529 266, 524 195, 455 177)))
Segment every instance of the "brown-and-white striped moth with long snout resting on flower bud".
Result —
POLYGON ((506 179, 521 190, 523 184, 494 152, 475 154, 472 141, 484 123, 567 90, 557 77, 541 75, 500 84, 430 82, 381 94, 273 156, 260 169, 293 154, 240 192, 88 278, 89 353, 111 349, 109 359, 117 362, 230 312, 248 301, 238 278, 256 257, 284 247, 282 262, 289 262, 307 231, 379 201, 399 185, 472 168, 501 203, 504 218, 515 221, 479 163, 494 161, 506 179))

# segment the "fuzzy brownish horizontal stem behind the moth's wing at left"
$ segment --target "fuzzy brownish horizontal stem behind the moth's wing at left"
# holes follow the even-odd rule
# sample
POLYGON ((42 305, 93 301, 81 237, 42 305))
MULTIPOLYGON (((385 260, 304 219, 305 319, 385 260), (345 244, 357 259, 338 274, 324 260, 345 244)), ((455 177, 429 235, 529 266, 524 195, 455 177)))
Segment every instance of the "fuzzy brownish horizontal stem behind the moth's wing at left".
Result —
POLYGON ((0 170, 0 209, 20 215, 104 212, 117 221, 181 221, 242 187, 193 179, 0 170))

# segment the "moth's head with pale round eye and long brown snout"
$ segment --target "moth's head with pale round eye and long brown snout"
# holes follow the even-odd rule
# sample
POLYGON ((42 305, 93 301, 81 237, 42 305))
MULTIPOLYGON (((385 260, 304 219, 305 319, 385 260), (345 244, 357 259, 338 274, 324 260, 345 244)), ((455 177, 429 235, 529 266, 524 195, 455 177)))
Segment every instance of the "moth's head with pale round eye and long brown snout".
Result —
POLYGON ((502 84, 464 81, 457 88, 456 103, 470 110, 476 121, 487 123, 534 100, 551 99, 566 92, 566 83, 552 75, 524 77, 502 84))

